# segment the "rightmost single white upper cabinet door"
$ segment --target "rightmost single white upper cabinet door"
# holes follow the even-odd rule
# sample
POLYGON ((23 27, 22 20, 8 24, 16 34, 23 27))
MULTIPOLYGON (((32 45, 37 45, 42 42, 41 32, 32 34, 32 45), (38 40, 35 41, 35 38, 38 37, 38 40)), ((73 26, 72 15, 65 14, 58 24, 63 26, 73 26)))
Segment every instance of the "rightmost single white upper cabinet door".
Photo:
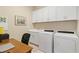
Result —
POLYGON ((64 20, 77 20, 77 7, 66 6, 64 7, 64 20))

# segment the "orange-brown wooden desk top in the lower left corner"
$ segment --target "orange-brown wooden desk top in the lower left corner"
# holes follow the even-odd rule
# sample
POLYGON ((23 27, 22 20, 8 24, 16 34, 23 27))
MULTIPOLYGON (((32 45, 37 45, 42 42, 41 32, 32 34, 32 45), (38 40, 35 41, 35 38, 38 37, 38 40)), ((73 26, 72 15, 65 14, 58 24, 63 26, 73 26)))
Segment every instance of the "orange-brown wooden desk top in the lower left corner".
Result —
POLYGON ((9 39, 9 42, 12 43, 15 47, 7 50, 6 52, 8 53, 30 53, 32 50, 32 47, 15 39, 9 39))

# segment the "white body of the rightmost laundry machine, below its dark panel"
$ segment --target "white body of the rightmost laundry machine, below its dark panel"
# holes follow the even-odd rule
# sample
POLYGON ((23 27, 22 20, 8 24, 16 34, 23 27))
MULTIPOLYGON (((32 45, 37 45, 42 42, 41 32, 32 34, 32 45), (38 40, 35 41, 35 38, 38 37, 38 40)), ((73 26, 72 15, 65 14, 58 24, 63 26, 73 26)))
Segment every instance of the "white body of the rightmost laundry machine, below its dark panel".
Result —
POLYGON ((76 34, 55 33, 54 52, 55 53, 74 53, 76 52, 76 34))

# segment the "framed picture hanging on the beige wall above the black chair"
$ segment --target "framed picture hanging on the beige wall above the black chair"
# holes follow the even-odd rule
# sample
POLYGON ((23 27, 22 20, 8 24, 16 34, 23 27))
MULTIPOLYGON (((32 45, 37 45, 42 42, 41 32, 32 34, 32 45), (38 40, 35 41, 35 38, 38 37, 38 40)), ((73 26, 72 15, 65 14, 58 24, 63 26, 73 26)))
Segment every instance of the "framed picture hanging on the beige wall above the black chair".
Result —
POLYGON ((26 25, 26 19, 24 16, 15 16, 15 25, 24 26, 26 25))

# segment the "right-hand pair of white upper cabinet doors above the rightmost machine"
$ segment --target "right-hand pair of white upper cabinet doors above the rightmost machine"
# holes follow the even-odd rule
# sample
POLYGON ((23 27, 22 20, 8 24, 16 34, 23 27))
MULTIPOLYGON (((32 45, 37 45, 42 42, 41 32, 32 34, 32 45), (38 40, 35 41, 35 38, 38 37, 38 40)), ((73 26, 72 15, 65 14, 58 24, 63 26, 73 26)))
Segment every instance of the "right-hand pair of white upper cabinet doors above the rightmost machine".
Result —
POLYGON ((57 20, 77 20, 77 8, 75 6, 57 7, 57 20))

